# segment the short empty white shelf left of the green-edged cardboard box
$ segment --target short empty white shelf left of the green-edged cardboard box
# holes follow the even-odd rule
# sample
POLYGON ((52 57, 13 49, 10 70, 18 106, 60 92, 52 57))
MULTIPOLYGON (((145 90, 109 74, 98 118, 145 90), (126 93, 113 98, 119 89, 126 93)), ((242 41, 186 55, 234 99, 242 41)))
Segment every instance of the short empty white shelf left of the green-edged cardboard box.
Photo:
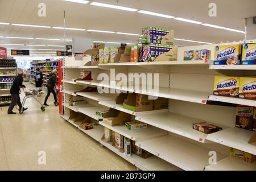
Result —
POLYGON ((108 101, 114 100, 117 95, 116 94, 100 94, 98 92, 77 92, 77 96, 82 96, 86 98, 90 98, 95 101, 108 101))

